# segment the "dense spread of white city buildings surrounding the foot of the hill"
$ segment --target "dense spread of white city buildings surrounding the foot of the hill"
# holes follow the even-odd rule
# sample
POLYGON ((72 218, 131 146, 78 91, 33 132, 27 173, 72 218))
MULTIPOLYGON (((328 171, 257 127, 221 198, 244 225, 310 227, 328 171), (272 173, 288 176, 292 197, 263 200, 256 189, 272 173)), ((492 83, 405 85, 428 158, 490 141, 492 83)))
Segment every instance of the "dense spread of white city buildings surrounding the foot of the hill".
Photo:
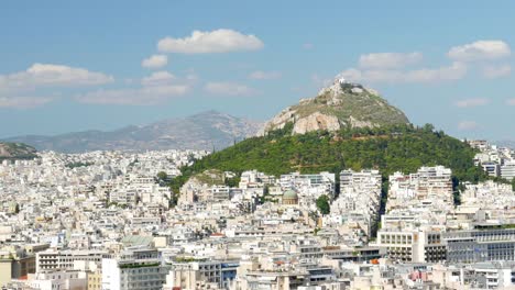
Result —
MULTIPOLYGON (((514 152, 475 163, 515 177, 514 152)), ((515 281, 509 183, 421 167, 265 175, 206 171, 207 152, 42 152, 0 166, 0 283, 9 289, 492 289, 515 281), (336 194, 338 175, 339 194, 336 194)))

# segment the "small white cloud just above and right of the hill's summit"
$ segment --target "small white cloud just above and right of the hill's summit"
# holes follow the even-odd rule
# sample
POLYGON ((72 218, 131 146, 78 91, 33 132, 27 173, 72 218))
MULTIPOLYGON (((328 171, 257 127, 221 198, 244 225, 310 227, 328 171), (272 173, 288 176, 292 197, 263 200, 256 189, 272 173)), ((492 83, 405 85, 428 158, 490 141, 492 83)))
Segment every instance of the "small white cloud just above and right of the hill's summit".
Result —
POLYGON ((421 53, 376 53, 360 56, 360 67, 373 69, 401 68, 423 59, 421 53))

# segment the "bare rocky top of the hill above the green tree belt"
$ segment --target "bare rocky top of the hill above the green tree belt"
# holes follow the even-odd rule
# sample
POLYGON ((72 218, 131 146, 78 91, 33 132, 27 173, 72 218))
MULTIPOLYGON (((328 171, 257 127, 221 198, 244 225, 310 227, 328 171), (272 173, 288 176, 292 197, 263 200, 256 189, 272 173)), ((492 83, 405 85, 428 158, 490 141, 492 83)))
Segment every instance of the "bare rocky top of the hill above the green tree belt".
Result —
POLYGON ((341 127, 380 127, 408 124, 406 115, 373 89, 336 78, 313 99, 303 99, 270 120, 260 134, 293 123, 293 134, 341 127))

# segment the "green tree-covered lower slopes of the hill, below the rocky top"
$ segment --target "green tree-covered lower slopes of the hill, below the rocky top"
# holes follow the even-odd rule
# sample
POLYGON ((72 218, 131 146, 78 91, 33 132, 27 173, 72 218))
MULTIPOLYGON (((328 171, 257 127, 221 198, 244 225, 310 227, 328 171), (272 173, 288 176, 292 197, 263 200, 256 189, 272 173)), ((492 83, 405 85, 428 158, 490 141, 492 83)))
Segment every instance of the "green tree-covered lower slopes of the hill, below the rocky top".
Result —
POLYGON ((395 171, 414 172, 421 166, 443 165, 452 169, 454 186, 478 182, 485 174, 473 164, 475 150, 468 144, 431 125, 396 125, 313 131, 292 134, 293 123, 265 136, 244 140, 213 153, 190 167, 172 182, 174 190, 190 177, 207 169, 242 172, 258 169, 271 175, 292 171, 305 174, 342 169, 376 168, 386 179, 395 171))

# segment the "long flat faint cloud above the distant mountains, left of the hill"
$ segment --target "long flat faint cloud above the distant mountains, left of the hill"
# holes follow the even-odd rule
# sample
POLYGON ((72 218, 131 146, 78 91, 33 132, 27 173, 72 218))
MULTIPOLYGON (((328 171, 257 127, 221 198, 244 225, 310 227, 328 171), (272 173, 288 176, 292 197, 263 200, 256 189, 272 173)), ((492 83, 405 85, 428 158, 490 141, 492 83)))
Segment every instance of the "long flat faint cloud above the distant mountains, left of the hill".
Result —
POLYGON ((184 85, 143 87, 140 89, 97 90, 76 97, 81 103, 154 105, 188 91, 184 85))

